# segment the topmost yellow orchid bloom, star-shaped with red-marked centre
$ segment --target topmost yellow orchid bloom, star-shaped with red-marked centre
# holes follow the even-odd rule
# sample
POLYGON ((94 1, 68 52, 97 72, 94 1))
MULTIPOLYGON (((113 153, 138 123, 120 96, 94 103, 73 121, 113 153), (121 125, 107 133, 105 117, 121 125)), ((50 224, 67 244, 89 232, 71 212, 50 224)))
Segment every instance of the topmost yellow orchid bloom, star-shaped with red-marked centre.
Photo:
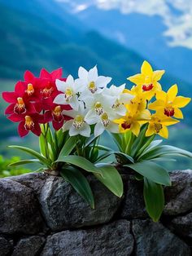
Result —
POLYGON ((130 82, 135 83, 137 86, 140 86, 141 89, 147 92, 147 99, 151 99, 155 92, 161 90, 159 80, 164 74, 164 70, 155 70, 153 71, 151 64, 146 60, 142 63, 141 73, 137 73, 132 77, 127 79, 130 82))

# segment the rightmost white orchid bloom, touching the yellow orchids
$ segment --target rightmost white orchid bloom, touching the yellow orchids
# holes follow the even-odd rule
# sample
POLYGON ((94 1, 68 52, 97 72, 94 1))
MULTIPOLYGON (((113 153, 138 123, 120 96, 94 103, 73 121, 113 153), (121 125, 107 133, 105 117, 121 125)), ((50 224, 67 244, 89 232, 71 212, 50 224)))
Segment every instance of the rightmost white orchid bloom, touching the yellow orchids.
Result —
POLYGON ((107 95, 111 95, 112 97, 116 97, 116 101, 111 107, 120 116, 124 116, 125 113, 127 112, 124 105, 129 104, 130 100, 133 99, 133 95, 130 95, 129 93, 123 93, 124 88, 125 88, 125 83, 121 86, 112 85, 110 88, 105 88, 103 90, 103 93, 105 93, 107 95))

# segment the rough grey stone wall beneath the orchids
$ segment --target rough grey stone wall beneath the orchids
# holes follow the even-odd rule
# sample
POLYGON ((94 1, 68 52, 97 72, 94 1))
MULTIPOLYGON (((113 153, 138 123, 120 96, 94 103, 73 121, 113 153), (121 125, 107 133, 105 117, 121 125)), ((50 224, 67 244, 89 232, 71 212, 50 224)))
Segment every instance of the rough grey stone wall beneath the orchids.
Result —
POLYGON ((192 171, 171 174, 159 223, 147 216, 142 182, 124 176, 119 199, 90 178, 91 210, 62 178, 24 174, 0 179, 0 255, 191 254, 192 171))

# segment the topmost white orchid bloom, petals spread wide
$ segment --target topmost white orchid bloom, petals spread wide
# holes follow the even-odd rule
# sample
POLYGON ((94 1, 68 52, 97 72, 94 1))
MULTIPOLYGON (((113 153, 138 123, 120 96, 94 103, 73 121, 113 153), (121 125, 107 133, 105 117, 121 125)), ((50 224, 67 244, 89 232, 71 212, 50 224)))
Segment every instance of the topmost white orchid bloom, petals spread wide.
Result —
POLYGON ((98 76, 98 68, 96 66, 89 71, 80 67, 78 76, 76 84, 81 87, 81 92, 86 96, 101 92, 111 82, 111 77, 98 76))

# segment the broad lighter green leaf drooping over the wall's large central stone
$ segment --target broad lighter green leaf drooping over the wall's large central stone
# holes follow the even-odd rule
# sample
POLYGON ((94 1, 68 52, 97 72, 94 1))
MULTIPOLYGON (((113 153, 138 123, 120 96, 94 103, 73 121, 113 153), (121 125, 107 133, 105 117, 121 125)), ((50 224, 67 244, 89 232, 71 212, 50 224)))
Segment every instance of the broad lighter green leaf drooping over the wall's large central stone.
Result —
POLYGON ((116 168, 102 163, 98 163, 95 166, 97 166, 103 174, 102 176, 94 174, 95 177, 116 196, 121 197, 124 192, 124 184, 116 168))

